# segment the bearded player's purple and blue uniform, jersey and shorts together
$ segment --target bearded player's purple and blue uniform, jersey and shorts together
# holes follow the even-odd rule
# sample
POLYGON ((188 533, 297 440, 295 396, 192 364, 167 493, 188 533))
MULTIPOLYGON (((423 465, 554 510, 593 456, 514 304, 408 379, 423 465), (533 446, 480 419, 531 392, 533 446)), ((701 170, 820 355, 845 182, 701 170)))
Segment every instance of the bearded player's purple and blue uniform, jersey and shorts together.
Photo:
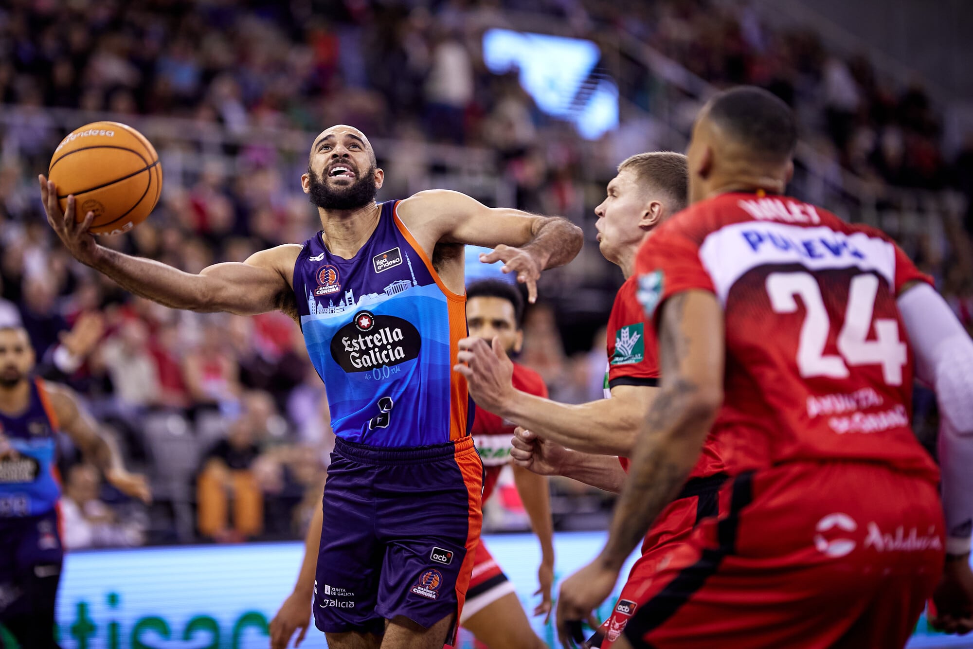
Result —
POLYGON ((338 438, 312 604, 326 632, 381 633, 398 616, 424 627, 458 619, 483 520, 466 381, 452 371, 466 300, 443 284, 397 204, 380 203, 375 232, 351 259, 332 255, 319 233, 294 267, 338 438))

